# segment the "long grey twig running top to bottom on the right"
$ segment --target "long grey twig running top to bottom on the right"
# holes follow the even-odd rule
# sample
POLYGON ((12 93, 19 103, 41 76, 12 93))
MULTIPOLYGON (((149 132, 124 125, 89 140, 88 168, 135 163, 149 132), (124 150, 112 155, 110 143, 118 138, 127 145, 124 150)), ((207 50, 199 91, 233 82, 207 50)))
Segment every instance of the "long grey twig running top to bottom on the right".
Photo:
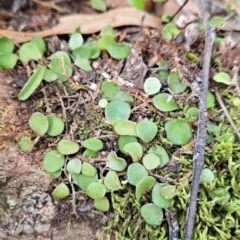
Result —
POLYGON ((201 74, 201 92, 199 95, 198 107, 199 107, 199 125, 197 140, 194 147, 193 154, 193 181, 191 186, 190 199, 188 202, 186 225, 184 229, 184 240, 191 240, 193 234, 193 226, 197 208, 197 196, 199 189, 199 180, 204 164, 204 147, 206 142, 206 96, 208 90, 208 79, 210 69, 210 59, 212 52, 212 44, 214 41, 215 33, 209 26, 208 12, 205 8, 205 1, 198 0, 198 5, 201 13, 201 18, 205 28, 205 47, 203 56, 203 69, 201 74))

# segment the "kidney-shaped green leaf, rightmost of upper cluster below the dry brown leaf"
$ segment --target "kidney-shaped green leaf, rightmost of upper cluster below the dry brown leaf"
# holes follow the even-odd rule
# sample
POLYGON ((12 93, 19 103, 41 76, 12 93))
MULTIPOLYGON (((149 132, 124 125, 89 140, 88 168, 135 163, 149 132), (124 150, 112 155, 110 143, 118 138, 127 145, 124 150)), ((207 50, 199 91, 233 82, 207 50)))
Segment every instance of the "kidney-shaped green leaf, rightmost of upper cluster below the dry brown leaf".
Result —
POLYGON ((131 48, 127 44, 118 44, 115 42, 107 44, 106 50, 112 58, 117 60, 127 58, 131 52, 131 48))

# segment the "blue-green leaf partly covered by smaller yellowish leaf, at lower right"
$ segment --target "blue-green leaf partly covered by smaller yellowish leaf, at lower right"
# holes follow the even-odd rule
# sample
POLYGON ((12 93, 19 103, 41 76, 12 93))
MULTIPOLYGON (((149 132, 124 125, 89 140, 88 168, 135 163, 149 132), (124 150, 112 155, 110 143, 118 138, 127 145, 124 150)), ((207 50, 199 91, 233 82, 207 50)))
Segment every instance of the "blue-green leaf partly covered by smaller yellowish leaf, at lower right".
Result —
POLYGON ((169 208, 173 201, 172 199, 165 199, 160 193, 161 188, 167 185, 166 183, 157 183, 152 190, 152 201, 160 208, 169 208))

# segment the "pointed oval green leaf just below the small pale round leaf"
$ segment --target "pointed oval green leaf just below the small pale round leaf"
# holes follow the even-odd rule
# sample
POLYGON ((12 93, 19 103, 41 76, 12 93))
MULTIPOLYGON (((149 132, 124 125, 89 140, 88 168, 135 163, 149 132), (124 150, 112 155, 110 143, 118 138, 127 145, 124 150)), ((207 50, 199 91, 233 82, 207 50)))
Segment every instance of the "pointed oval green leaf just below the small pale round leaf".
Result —
POLYGON ((153 105, 162 112, 171 112, 178 109, 174 98, 167 93, 160 93, 153 97, 153 105))

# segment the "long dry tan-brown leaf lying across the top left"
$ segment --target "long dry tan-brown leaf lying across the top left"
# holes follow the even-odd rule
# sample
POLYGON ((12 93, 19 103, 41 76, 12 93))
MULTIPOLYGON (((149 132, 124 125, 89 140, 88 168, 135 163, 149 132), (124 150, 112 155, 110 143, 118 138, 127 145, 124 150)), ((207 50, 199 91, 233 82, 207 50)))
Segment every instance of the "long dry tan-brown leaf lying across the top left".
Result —
POLYGON ((101 31, 106 25, 111 25, 112 27, 139 26, 144 16, 143 26, 156 29, 161 28, 161 20, 157 17, 134 8, 119 8, 97 15, 76 14, 61 17, 58 25, 40 32, 17 32, 0 29, 0 36, 5 36, 16 43, 21 43, 30 40, 34 36, 47 37, 56 34, 70 34, 78 27, 81 28, 82 34, 92 34, 101 31))

